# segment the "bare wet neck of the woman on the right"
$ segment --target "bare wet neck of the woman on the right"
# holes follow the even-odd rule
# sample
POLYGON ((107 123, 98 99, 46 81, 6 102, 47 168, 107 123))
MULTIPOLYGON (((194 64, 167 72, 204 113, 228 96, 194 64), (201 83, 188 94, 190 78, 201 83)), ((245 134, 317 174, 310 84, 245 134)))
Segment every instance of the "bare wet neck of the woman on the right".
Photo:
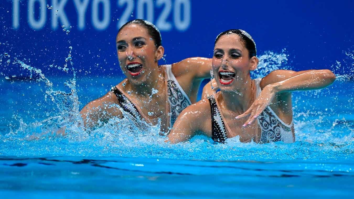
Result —
POLYGON ((247 78, 244 78, 244 83, 242 83, 242 87, 238 89, 238 92, 241 93, 241 95, 235 93, 235 92, 220 92, 222 95, 222 100, 221 104, 224 108, 227 110, 236 112, 236 113, 244 113, 253 103, 255 99, 253 96, 255 95, 252 89, 252 86, 254 82, 252 83, 251 77, 247 76, 247 78))

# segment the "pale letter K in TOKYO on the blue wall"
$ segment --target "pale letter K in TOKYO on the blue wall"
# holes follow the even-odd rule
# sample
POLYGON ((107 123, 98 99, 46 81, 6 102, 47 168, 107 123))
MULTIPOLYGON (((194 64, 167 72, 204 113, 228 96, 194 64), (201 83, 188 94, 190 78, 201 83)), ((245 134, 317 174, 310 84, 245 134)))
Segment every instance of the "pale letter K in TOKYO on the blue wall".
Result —
POLYGON ((68 0, 61 0, 60 3, 58 4, 58 0, 52 0, 53 9, 51 10, 52 11, 51 20, 52 20, 52 29, 53 30, 56 30, 58 28, 58 18, 60 18, 60 21, 66 27, 69 27, 69 25, 70 25, 68 17, 66 16, 65 11, 64 11, 64 6, 67 3, 67 1, 68 0), (58 10, 58 12, 56 10, 58 10))

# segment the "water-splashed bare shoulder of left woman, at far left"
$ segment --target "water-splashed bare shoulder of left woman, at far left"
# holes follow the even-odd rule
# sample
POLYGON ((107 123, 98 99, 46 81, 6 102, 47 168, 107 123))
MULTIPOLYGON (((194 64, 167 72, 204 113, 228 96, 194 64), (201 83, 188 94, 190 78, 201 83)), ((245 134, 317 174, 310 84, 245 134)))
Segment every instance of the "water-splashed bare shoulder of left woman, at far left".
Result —
POLYGON ((122 112, 118 104, 119 101, 112 91, 87 103, 80 111, 84 126, 93 127, 96 126, 99 121, 105 122, 113 117, 121 118, 122 112))

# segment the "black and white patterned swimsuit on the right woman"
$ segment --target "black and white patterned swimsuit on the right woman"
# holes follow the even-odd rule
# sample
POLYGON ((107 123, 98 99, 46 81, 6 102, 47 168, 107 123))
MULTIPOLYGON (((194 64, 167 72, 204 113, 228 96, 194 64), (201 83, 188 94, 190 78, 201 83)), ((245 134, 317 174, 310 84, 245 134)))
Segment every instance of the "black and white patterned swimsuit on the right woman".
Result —
MULTIPOLYGON (((256 97, 261 93, 261 87, 259 83, 261 79, 256 79, 256 97)), ((211 136, 215 142, 225 143, 227 139, 225 123, 221 117, 220 111, 217 106, 215 97, 208 97, 211 108, 211 136)), ((292 128, 293 121, 290 125, 285 124, 279 117, 274 113, 272 108, 267 106, 263 112, 258 116, 257 122, 262 129, 261 140, 259 143, 267 142, 277 142, 283 141, 285 143, 294 142, 292 128)))

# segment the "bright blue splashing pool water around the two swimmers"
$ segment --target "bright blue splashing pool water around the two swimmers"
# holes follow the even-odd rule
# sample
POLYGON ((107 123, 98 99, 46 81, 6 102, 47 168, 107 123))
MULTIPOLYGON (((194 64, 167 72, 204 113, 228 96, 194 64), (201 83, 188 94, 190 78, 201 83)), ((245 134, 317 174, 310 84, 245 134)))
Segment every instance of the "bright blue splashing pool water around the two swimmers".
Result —
MULTIPOLYGON (((282 53, 267 52, 262 60, 256 77, 291 68, 282 53)), ((353 60, 350 54, 346 64, 353 60)), ((68 72, 48 67, 55 73, 46 73, 22 61, 1 65, 23 71, 13 77, 4 70, 0 79, 4 198, 352 197, 354 82, 353 71, 338 74, 344 63, 333 63, 338 75, 328 88, 293 93, 295 143, 240 143, 235 137, 215 144, 197 136, 170 145, 158 126, 129 116, 91 132, 78 127, 80 108, 120 76, 75 77, 70 65, 68 72), (67 135, 54 136, 62 126, 67 135)))

